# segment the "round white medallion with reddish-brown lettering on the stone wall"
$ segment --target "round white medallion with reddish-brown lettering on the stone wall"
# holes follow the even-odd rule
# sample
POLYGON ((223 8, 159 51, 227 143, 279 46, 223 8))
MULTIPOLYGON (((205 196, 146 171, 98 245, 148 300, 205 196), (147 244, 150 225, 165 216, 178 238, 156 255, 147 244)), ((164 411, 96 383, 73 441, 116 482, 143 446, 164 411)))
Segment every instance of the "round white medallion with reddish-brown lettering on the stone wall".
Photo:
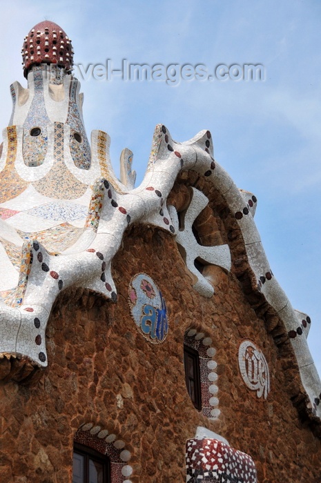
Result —
POLYGON ((266 359, 255 344, 244 340, 239 348, 239 366, 242 378, 257 397, 266 397, 270 392, 269 366, 266 359))

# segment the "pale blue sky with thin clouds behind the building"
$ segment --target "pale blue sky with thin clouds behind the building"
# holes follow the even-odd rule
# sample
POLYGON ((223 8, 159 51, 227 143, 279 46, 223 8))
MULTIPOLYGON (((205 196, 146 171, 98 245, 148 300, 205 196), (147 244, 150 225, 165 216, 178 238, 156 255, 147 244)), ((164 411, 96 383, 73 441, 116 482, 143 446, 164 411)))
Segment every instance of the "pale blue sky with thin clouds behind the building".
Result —
POLYGON ((215 159, 258 199, 255 221, 275 277, 294 308, 312 320, 309 346, 321 374, 321 3, 318 0, 56 0, 1 5, 1 126, 11 112, 10 83, 24 86, 24 35, 43 19, 72 39, 75 62, 260 63, 265 80, 82 82, 88 135, 111 137, 117 171, 122 148, 134 152, 138 181, 155 125, 177 141, 202 129, 215 159))

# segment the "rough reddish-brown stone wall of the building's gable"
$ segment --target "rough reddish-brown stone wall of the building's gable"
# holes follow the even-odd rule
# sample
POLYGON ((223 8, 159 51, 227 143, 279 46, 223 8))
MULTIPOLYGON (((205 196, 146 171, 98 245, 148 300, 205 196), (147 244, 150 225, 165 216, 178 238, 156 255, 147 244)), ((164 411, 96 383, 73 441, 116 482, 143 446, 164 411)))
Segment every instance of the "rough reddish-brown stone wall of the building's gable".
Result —
POLYGON ((260 483, 321 480, 320 426, 301 410, 304 393, 291 345, 275 314, 251 292, 228 217, 219 224, 232 248, 233 270, 212 268, 210 299, 191 287, 171 235, 146 226, 128 230, 113 260, 117 303, 83 289, 61 293, 48 323, 48 368, 28 384, 0 383, 0 481, 71 482, 72 444, 81 426, 108 444, 120 441, 118 449, 127 451, 125 460, 115 460, 117 482, 184 482, 185 444, 197 426, 251 455, 260 483), (146 339, 130 312, 128 286, 137 273, 153 279, 166 302, 162 343, 146 339), (220 413, 213 420, 194 408, 186 391, 183 341, 193 329, 216 348, 220 413), (244 340, 269 366, 266 399, 242 379, 244 340))

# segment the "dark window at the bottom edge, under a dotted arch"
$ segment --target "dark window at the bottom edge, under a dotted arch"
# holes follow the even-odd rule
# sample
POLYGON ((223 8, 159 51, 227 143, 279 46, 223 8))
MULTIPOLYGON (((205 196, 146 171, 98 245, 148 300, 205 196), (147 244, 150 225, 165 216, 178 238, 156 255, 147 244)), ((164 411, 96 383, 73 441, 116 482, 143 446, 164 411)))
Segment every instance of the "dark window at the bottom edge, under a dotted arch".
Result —
POLYGON ((72 483, 110 483, 109 458, 75 443, 72 483))

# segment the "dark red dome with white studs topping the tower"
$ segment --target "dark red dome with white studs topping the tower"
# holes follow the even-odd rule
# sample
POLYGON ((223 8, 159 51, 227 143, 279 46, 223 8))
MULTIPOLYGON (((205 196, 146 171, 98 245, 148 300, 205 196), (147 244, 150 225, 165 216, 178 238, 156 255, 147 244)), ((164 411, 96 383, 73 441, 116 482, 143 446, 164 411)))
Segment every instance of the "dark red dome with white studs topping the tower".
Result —
POLYGON ((26 78, 30 67, 39 63, 55 63, 67 72, 72 69, 71 40, 57 23, 46 20, 37 23, 25 37, 21 53, 26 78))

